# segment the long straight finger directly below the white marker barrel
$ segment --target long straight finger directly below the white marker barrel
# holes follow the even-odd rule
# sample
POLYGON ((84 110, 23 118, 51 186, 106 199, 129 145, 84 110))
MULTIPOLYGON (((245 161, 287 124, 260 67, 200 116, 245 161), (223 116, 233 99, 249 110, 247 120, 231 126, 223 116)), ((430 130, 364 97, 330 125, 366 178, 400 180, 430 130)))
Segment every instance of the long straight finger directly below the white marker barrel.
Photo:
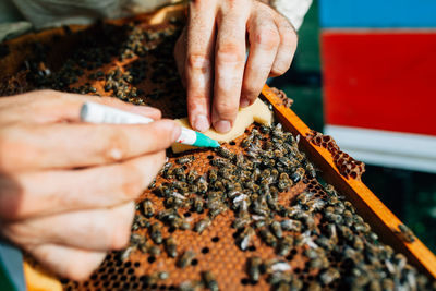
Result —
POLYGON ((0 172, 112 163, 166 149, 180 133, 180 125, 171 120, 11 126, 0 141, 0 172))

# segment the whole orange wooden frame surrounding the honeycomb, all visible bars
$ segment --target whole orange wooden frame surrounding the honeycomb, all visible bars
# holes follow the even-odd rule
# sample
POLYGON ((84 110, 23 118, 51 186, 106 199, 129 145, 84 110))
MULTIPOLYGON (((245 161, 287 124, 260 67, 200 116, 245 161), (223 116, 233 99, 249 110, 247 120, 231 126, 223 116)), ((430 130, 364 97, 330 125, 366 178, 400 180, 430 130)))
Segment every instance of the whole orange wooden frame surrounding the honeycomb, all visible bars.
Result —
MULTIPOLYGON (((138 16, 135 17, 135 20, 160 23, 171 16, 180 16, 183 14, 183 7, 167 7, 154 14, 138 16)), ((113 23, 117 23, 117 21, 113 23)), ((84 27, 85 26, 74 26, 73 31, 78 31, 84 27)), ((60 31, 61 29, 58 28, 38 34, 31 34, 8 41, 11 53, 8 58, 0 60, 0 66, 4 68, 3 64, 5 63, 9 65, 0 73, 0 77, 16 72, 25 56, 31 53, 28 51, 20 51, 23 44, 49 39, 55 32, 59 34, 60 31), (15 53, 15 50, 19 50, 19 52, 15 53)), ((361 180, 348 179, 341 175, 327 149, 316 146, 304 138, 311 132, 311 129, 291 109, 283 106, 282 100, 276 93, 265 85, 262 95, 272 105, 277 120, 280 121, 288 131, 303 137, 300 140, 300 146, 306 153, 311 161, 322 171, 323 179, 332 184, 352 202, 358 213, 371 225, 380 240, 392 246, 395 251, 403 253, 409 262, 421 271, 436 279, 436 256, 419 239, 415 239, 412 243, 408 243, 402 239, 398 229, 399 225, 402 222, 361 180)), ((38 288, 38 286, 40 287, 41 284, 37 281, 43 277, 39 275, 35 276, 34 269, 28 264, 25 264, 25 274, 33 274, 33 276, 26 276, 27 288, 29 290, 43 290, 38 288)), ((51 286, 53 288, 59 288, 60 283, 51 286)))

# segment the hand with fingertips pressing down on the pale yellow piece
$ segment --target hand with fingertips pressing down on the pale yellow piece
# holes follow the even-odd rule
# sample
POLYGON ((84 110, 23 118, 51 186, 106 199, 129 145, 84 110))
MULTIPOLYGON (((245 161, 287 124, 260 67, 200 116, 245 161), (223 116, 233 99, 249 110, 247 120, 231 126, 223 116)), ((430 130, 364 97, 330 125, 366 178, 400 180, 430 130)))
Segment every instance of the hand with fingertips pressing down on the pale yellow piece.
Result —
POLYGON ((284 16, 259 1, 190 1, 174 57, 191 125, 203 132, 211 122, 218 132, 230 131, 239 107, 254 102, 267 77, 288 71, 296 43, 284 16))

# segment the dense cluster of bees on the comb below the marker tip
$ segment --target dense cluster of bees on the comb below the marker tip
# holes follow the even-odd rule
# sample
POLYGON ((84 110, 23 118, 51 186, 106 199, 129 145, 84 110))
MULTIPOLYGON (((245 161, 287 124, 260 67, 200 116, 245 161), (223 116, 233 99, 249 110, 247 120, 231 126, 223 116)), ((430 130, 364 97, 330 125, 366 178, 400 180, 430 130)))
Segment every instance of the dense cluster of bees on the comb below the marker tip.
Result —
MULTIPOLYGON (((274 290, 429 288, 427 278, 407 264, 403 255, 379 243, 377 234, 331 185, 322 187, 313 182, 319 190, 310 184, 289 205, 280 203, 280 196, 299 182, 316 181, 316 170, 299 150, 298 138, 284 132, 280 123, 255 126, 240 146, 242 153, 226 146, 217 148, 216 156, 209 156, 210 168, 203 174, 187 167, 196 159, 193 154, 168 161, 159 173, 164 182, 150 185, 167 209, 155 211, 150 201, 145 199, 142 219, 155 217, 169 228, 202 233, 215 217, 233 211, 231 227, 241 251, 252 247, 255 237, 275 250, 276 258, 254 256, 246 262, 249 281, 256 283, 266 278, 274 290), (178 209, 207 216, 191 226, 178 209), (292 272, 289 260, 295 250, 303 250, 305 271, 315 274, 308 286, 292 272), (335 267, 338 265, 347 268, 335 267)), ((153 237, 155 225, 148 225, 150 239, 160 243, 153 237)), ((177 257, 177 246, 171 253, 169 248, 165 246, 168 255, 177 257)), ((185 251, 175 264, 183 268, 194 257, 192 251, 185 251)), ((199 286, 207 287, 204 281, 190 281, 180 290, 196 290, 199 286)))

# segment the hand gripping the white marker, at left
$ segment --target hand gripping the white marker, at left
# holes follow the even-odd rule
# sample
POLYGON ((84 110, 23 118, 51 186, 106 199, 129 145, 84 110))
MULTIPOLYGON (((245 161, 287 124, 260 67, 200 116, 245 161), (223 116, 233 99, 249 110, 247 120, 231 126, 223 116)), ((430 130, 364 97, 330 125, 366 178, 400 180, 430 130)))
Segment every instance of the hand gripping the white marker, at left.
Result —
POLYGON ((133 201, 165 162, 180 126, 114 98, 52 90, 0 98, 0 235, 62 277, 87 278, 130 238, 133 201), (80 121, 85 101, 155 121, 80 121))

